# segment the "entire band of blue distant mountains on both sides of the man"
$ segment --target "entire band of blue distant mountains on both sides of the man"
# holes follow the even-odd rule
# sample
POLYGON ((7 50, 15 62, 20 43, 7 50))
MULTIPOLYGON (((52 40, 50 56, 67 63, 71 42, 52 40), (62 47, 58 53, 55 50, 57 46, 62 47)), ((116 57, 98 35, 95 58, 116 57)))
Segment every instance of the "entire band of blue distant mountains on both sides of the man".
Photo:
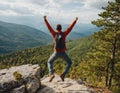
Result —
MULTIPOLYGON (((51 26, 53 27, 53 24, 51 26)), ((62 26, 64 31, 69 25, 63 24, 62 26)), ((0 21, 0 54, 51 43, 52 37, 48 29, 43 27, 42 30, 44 32, 26 25, 0 21)), ((98 30, 99 28, 92 24, 76 24, 67 36, 67 40, 86 37, 98 30)))

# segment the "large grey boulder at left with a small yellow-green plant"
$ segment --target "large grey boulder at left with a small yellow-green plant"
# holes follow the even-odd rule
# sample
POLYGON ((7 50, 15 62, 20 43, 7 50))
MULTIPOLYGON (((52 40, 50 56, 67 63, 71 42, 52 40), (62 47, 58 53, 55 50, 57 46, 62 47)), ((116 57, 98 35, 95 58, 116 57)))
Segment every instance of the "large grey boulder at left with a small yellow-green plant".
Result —
POLYGON ((39 65, 21 65, 0 70, 0 93, 36 93, 40 88, 39 65))

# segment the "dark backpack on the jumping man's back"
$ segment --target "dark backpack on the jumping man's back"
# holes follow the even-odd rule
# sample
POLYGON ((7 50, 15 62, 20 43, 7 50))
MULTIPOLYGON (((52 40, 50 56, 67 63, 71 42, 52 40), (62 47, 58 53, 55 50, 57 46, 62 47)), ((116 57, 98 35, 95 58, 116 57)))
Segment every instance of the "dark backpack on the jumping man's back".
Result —
POLYGON ((65 43, 63 42, 63 33, 56 33, 55 35, 55 48, 57 50, 61 50, 65 47, 65 43))

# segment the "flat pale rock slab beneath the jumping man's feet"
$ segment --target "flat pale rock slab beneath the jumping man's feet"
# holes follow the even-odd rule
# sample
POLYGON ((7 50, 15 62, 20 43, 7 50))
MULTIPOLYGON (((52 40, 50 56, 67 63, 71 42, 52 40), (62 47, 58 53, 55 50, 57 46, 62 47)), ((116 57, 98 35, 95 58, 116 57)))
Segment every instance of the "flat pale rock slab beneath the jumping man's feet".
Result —
POLYGON ((62 82, 58 75, 52 82, 48 82, 49 77, 43 77, 41 79, 41 89, 37 93, 94 93, 93 89, 88 88, 84 83, 65 78, 62 82))

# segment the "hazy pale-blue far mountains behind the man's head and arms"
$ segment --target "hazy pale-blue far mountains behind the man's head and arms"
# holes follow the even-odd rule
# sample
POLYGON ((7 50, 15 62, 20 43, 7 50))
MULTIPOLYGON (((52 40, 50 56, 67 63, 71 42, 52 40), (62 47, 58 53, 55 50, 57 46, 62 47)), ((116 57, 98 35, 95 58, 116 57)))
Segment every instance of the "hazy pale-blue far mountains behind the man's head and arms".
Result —
MULTIPOLYGON (((65 31, 70 24, 61 24, 61 25, 62 25, 62 31, 65 31)), ((54 30, 56 29, 55 23, 51 23, 51 26, 54 30)), ((42 29, 42 31, 44 31, 45 33, 49 34, 48 29, 46 28, 45 25, 40 25, 40 29, 42 29)), ((98 28, 92 24, 79 23, 73 27, 72 31, 67 36, 67 39, 71 40, 71 39, 77 39, 77 38, 81 38, 81 37, 90 36, 91 34, 93 34, 94 32, 96 32, 98 30, 100 30, 100 28, 98 28)))

